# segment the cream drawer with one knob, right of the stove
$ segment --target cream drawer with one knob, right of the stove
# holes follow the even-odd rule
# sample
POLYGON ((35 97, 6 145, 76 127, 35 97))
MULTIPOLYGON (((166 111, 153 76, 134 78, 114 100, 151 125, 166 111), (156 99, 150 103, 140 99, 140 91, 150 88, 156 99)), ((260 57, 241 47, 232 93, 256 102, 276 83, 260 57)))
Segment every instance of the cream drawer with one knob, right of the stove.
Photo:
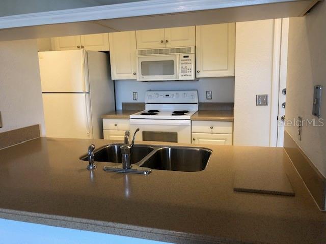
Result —
POLYGON ((193 132, 232 134, 232 121, 192 121, 193 132))

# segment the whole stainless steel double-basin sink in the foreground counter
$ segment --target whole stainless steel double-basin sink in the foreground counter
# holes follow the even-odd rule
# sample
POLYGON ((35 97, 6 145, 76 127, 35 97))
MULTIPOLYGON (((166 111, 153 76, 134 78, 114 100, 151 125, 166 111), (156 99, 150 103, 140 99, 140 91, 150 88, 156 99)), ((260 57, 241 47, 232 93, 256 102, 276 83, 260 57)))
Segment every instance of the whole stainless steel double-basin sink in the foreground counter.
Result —
MULTIPOLYGON (((94 150, 94 161, 122 163, 121 145, 109 144, 94 150)), ((207 148, 198 147, 134 145, 131 164, 157 170, 195 172, 206 168, 211 153, 207 148)), ((80 159, 87 161, 88 156, 80 159)))

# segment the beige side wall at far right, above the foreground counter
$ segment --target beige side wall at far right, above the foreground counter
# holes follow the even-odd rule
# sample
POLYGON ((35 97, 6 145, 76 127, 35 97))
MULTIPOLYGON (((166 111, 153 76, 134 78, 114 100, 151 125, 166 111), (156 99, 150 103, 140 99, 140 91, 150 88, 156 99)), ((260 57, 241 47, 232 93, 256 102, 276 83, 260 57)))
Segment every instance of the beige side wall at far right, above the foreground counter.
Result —
MULTIPOLYGON (((313 87, 323 85, 321 118, 326 116, 326 2, 320 2, 307 17, 290 18, 288 44, 286 119, 312 115, 313 87)), ((318 118, 317 118, 318 119, 318 118)), ((323 127, 304 126, 302 141, 297 127, 287 126, 304 153, 326 176, 326 121, 323 127)))

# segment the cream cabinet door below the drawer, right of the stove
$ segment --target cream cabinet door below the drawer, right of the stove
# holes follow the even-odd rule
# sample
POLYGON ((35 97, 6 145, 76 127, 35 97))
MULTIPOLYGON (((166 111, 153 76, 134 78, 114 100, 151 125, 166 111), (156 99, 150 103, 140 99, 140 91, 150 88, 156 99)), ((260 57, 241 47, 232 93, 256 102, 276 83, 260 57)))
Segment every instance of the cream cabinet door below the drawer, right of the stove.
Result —
POLYGON ((232 134, 193 133, 193 144, 232 145, 232 134))

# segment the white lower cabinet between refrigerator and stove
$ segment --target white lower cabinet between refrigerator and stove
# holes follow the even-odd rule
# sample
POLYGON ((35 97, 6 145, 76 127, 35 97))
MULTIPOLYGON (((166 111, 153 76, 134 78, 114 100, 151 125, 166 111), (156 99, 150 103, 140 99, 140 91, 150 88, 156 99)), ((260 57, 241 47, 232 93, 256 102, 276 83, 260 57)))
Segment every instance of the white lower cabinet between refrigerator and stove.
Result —
POLYGON ((130 131, 129 119, 103 119, 103 138, 124 140, 124 133, 130 131))

